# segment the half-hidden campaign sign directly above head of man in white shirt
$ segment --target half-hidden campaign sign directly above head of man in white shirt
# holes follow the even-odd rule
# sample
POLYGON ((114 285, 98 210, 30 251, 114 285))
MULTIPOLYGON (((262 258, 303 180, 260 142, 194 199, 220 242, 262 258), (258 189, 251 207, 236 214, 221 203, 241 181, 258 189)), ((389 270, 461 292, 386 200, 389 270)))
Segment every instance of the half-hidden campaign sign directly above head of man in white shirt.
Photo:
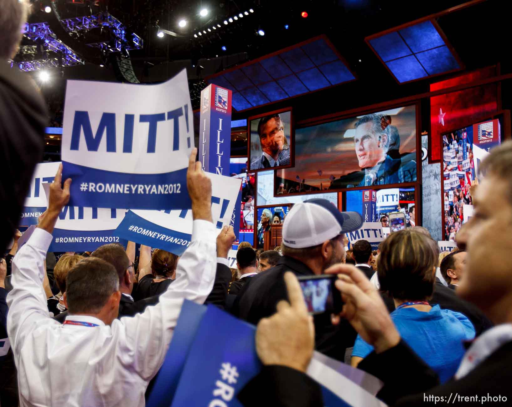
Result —
POLYGON ((94 251, 108 243, 125 241, 114 234, 124 218, 125 209, 65 206, 53 229, 48 251, 94 251))

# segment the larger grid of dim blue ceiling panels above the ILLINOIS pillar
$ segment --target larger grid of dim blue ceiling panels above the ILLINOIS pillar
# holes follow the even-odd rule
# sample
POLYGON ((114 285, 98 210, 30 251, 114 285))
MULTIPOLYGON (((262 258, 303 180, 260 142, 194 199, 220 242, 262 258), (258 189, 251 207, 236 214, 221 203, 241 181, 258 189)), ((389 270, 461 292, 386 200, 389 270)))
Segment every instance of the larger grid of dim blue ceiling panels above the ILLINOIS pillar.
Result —
POLYGON ((242 111, 355 79, 324 38, 210 78, 242 111))

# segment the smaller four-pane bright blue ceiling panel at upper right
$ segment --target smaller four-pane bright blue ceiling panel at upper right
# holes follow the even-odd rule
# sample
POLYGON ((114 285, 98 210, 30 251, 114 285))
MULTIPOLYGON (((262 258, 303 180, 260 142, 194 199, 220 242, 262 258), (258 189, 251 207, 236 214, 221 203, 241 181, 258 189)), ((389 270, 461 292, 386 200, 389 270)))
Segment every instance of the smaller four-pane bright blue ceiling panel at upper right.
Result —
POLYGON ((462 68, 430 20, 369 42, 400 83, 462 68))

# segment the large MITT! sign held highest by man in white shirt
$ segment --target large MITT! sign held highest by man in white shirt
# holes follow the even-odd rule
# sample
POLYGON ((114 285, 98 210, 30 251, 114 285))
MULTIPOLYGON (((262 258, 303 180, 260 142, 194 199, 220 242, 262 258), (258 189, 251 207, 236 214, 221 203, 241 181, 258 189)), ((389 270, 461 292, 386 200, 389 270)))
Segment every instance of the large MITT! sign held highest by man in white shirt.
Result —
POLYGON ((189 209, 193 147, 185 70, 156 85, 68 80, 61 157, 70 205, 189 209))

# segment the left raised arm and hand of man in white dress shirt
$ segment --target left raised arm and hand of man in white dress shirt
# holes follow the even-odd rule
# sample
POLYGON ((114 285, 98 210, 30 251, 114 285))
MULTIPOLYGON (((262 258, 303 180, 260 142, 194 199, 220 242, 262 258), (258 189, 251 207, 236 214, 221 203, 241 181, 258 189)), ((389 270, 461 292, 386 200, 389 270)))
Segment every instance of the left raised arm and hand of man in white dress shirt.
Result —
POLYGON ((45 276, 46 252, 52 241, 53 228, 60 210, 69 201, 71 179, 62 188, 62 165, 50 186, 48 212, 27 243, 12 261, 12 291, 7 295, 9 314, 7 332, 14 353, 23 347, 25 337, 39 319, 49 318, 46 294, 42 286, 45 276))

